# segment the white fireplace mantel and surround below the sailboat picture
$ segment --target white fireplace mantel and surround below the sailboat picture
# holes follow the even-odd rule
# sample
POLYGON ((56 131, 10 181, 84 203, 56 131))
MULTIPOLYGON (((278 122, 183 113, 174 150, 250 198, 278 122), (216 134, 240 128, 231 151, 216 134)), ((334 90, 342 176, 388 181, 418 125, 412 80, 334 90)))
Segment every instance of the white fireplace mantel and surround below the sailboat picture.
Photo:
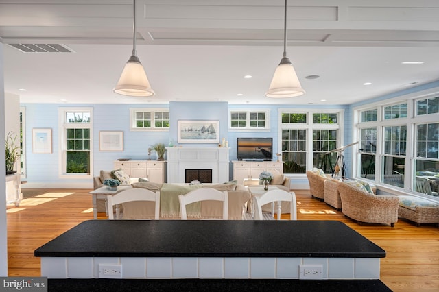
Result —
POLYGON ((185 182, 185 169, 212 169, 212 182, 228 182, 228 147, 167 147, 167 182, 185 182))

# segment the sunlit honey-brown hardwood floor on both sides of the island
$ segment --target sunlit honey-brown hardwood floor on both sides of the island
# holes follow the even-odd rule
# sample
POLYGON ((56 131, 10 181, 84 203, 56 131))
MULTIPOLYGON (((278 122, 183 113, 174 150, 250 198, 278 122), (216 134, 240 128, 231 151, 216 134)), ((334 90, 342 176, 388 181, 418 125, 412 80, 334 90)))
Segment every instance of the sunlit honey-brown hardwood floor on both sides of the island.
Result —
MULTIPOLYGON (((93 219, 91 195, 84 189, 47 190, 24 199, 19 208, 8 206, 8 275, 40 276, 40 258, 34 250, 78 223, 93 219)), ((296 191, 298 220, 337 220, 346 223, 382 247, 381 281, 392 291, 439 291, 439 228, 400 219, 394 228, 359 225, 331 206, 296 191)), ((99 219, 106 219, 104 213, 99 219)))

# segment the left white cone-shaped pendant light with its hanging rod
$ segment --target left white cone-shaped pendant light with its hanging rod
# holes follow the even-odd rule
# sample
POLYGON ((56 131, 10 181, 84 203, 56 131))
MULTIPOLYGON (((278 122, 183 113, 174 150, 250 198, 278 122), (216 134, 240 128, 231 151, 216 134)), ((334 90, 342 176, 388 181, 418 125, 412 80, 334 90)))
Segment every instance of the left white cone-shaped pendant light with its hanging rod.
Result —
POLYGON ((145 69, 143 69, 142 63, 137 57, 136 51, 136 0, 133 0, 134 8, 134 21, 132 37, 132 53, 130 59, 123 67, 123 71, 119 81, 115 86, 115 93, 121 95, 130 95, 134 97, 149 97, 155 95, 154 90, 150 86, 148 77, 146 76, 145 69))

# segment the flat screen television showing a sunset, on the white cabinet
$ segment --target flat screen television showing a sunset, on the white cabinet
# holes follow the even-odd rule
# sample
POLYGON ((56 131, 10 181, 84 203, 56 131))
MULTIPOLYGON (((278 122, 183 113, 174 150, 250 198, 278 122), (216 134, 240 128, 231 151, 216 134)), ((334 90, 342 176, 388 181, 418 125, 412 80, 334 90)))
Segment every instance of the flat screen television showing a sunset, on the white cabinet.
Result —
POLYGON ((273 138, 237 138, 236 158, 262 159, 271 161, 273 158, 273 138))

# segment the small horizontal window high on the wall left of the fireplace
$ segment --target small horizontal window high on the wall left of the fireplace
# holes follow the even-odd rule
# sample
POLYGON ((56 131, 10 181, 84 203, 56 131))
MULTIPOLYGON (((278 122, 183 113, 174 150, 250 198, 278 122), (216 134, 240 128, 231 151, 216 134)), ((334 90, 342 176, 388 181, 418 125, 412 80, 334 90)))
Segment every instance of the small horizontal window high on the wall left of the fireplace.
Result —
POLYGON ((131 131, 169 131, 168 108, 130 108, 131 131))

